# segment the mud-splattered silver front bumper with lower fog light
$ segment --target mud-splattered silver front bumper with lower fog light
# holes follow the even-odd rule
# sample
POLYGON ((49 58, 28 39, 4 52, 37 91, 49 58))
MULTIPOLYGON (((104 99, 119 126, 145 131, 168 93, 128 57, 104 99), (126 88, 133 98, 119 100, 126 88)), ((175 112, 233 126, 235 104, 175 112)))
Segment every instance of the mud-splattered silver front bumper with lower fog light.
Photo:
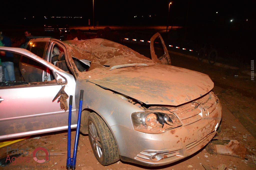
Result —
POLYGON ((181 160, 203 148, 216 134, 220 124, 221 105, 208 119, 149 134, 114 125, 111 126, 122 161, 145 166, 162 166, 181 160))

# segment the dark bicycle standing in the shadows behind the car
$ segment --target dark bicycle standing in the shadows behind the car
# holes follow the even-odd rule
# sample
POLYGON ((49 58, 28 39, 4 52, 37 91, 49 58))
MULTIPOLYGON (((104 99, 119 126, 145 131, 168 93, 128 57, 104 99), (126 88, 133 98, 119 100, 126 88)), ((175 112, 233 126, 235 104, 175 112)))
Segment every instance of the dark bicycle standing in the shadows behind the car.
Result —
POLYGON ((210 47, 207 47, 207 45, 205 44, 205 46, 198 51, 197 58, 198 61, 202 61, 207 57, 209 64, 214 64, 216 63, 218 53, 211 44, 209 44, 209 46, 210 47))

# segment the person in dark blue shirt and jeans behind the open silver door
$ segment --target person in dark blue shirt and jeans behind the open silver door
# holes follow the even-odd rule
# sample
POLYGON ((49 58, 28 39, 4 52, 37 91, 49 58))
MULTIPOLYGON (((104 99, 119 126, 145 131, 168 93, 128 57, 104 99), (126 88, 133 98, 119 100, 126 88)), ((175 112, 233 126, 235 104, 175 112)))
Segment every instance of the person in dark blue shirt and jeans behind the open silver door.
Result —
MULTIPOLYGON (((0 41, 2 41, 5 47, 12 47, 12 42, 9 37, 3 35, 0 31, 0 41)), ((14 65, 13 65, 13 53, 5 52, 5 55, 1 57, 2 66, 4 69, 4 80, 7 81, 15 81, 15 74, 14 74, 14 65)))

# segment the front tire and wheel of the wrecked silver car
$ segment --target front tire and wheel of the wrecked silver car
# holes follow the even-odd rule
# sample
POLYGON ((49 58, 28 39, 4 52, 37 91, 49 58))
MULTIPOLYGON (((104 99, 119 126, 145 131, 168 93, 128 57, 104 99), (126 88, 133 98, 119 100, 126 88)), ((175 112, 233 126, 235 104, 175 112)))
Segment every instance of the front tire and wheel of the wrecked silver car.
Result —
POLYGON ((88 115, 88 134, 94 156, 101 165, 110 165, 117 162, 119 153, 115 139, 103 121, 96 113, 88 115))

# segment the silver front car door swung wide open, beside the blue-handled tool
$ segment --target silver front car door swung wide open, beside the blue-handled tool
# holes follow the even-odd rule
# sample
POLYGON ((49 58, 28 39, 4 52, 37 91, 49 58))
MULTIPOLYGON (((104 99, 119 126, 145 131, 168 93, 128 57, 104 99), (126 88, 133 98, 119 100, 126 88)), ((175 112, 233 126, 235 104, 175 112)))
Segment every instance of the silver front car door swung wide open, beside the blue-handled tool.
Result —
MULTIPOLYGON (((68 96, 74 96, 74 77, 28 50, 8 47, 0 47, 0 50, 22 55, 30 63, 30 69, 25 68, 27 77, 36 80, 1 83, 0 140, 67 129, 68 111, 60 108, 58 99, 52 100, 63 86, 68 96), (53 80, 47 77, 45 70, 53 75, 53 80)), ((71 127, 76 127, 76 123, 73 100, 71 127)))

